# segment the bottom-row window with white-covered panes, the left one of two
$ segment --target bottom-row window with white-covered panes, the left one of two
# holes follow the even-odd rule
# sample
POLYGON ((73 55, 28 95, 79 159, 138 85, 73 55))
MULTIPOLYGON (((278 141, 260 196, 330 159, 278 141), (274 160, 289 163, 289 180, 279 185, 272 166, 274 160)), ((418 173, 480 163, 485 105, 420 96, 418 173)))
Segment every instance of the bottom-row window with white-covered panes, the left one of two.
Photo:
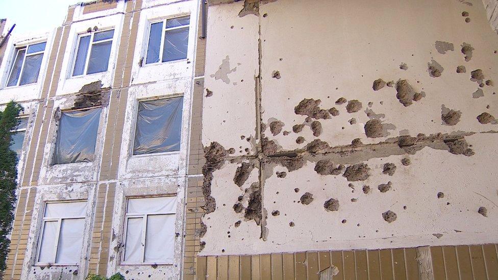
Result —
POLYGON ((38 264, 77 265, 85 227, 86 201, 45 204, 38 243, 38 264))

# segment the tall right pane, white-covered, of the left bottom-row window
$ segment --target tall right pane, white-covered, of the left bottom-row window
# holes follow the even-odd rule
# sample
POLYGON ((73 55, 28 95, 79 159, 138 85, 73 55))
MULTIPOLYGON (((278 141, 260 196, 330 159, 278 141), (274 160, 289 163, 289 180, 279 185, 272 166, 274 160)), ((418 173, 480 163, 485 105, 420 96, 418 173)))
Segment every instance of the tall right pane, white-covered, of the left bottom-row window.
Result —
POLYGON ((56 263, 77 264, 80 262, 84 226, 85 219, 62 220, 56 263))

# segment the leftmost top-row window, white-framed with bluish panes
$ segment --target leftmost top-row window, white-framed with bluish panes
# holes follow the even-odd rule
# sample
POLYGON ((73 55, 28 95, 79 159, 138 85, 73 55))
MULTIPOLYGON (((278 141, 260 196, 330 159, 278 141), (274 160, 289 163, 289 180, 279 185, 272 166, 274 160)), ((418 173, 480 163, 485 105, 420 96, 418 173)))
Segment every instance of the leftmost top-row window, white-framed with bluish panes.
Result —
POLYGON ((33 84, 38 81, 45 45, 46 42, 42 42, 16 48, 14 63, 7 81, 8 87, 33 84))

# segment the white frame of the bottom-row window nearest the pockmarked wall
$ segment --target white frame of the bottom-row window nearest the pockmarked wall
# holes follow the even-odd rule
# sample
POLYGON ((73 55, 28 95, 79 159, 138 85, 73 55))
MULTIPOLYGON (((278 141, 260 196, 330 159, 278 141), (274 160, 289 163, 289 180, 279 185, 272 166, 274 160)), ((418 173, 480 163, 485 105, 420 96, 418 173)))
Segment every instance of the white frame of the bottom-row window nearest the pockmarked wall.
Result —
MULTIPOLYGON (((120 265, 171 265, 172 263, 146 263, 144 262, 145 260, 145 234, 147 232, 147 217, 148 216, 154 216, 154 215, 176 215, 175 212, 154 212, 154 213, 147 213, 147 214, 137 214, 137 213, 128 213, 128 201, 130 199, 135 199, 135 198, 150 198, 150 197, 177 197, 177 195, 159 195, 159 196, 130 196, 126 198, 126 208, 124 209, 124 229, 123 229, 123 245, 122 245, 122 250, 121 250, 121 263, 120 265), (126 253, 126 237, 127 237, 127 231, 128 231, 128 219, 129 218, 142 218, 142 262, 125 262, 124 261, 124 255, 126 253)), ((176 217, 175 217, 176 221, 176 217)), ((173 244, 174 246, 174 244, 173 244)), ((173 248, 174 250, 174 248, 173 248)))

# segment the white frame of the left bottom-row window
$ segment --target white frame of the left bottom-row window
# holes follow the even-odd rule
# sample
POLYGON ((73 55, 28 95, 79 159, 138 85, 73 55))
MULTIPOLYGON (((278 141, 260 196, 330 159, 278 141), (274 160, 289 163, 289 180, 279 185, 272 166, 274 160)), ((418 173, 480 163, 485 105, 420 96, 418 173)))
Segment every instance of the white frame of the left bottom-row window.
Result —
MULTIPOLYGON (((77 266, 79 265, 79 263, 76 263, 76 264, 69 264, 69 263, 60 263, 60 264, 57 264, 55 263, 56 260, 57 260, 57 249, 59 247, 59 235, 61 233, 61 225, 62 225, 62 220, 74 220, 74 219, 86 219, 86 215, 85 216, 81 216, 81 217, 45 217, 45 210, 46 210, 46 207, 47 205, 49 204, 53 204, 53 203, 73 203, 73 202, 87 202, 87 209, 88 209, 88 201, 87 200, 69 200, 69 201, 47 201, 45 202, 45 205, 43 207, 43 213, 42 213, 42 221, 41 221, 41 227, 40 227, 40 234, 38 236, 38 243, 37 243, 37 249, 36 249, 36 260, 35 260, 35 266, 77 266), (58 222, 58 226, 57 226, 57 235, 56 235, 56 242, 55 242, 55 246, 54 246, 54 262, 53 263, 43 263, 43 262, 39 262, 39 258, 40 258, 40 250, 41 250, 41 241, 42 241, 42 238, 43 238, 43 232, 45 230, 45 222, 54 222, 54 221, 57 221, 58 222)), ((83 244, 82 244, 83 245, 83 244)))

